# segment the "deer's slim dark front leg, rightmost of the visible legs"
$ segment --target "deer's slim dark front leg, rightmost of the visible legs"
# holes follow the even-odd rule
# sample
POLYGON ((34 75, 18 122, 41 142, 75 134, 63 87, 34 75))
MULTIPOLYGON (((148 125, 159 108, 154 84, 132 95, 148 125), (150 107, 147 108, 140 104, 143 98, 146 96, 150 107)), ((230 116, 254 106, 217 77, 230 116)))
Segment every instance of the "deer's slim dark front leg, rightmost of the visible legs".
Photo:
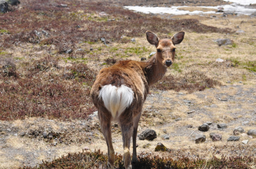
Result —
POLYGON ((132 158, 133 164, 137 162, 136 138, 137 138, 137 130, 139 125, 140 115, 141 115, 141 112, 133 120, 133 158, 132 158))

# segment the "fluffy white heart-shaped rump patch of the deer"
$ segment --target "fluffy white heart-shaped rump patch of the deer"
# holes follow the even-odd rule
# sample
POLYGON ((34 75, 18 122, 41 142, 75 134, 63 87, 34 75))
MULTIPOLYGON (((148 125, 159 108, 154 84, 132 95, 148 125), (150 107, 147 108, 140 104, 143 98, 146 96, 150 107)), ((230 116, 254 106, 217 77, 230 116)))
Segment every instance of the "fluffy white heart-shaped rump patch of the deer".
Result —
POLYGON ((124 85, 119 88, 106 85, 100 90, 99 97, 102 98, 106 109, 116 119, 133 101, 133 91, 124 85))

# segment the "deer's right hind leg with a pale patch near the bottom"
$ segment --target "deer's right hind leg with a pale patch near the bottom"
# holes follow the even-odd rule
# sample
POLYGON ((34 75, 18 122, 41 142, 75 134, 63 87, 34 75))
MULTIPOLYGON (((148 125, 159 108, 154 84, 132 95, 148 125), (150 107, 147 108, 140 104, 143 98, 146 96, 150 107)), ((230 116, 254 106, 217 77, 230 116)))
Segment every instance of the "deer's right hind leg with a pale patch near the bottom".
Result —
POLYGON ((131 165, 131 154, 130 154, 130 143, 132 137, 132 120, 120 120, 119 125, 121 126, 122 139, 123 139, 123 163, 124 167, 132 168, 131 165))

